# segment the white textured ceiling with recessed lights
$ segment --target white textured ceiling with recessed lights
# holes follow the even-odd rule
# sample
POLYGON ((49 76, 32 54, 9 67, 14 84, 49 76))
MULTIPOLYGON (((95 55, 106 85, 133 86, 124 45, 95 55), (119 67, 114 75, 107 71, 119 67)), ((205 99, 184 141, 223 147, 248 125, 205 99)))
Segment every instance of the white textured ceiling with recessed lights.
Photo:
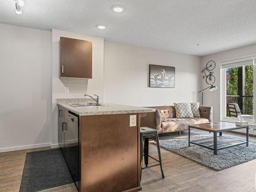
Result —
POLYGON ((24 13, 17 15, 13 0, 1 0, 0 23, 85 33, 125 44, 201 56, 256 42, 255 0, 25 0, 25 3, 24 13), (113 12, 113 5, 122 5, 124 12, 113 12), (108 28, 99 30, 97 24, 108 28))

